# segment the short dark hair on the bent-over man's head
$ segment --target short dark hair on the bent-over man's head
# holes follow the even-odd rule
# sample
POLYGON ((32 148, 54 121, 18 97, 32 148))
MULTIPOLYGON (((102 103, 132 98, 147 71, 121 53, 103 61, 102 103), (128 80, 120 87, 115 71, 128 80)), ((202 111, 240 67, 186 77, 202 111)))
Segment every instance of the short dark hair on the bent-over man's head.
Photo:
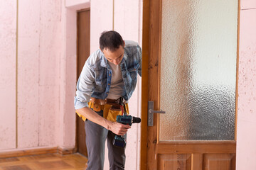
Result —
POLYGON ((104 50, 104 48, 110 50, 111 52, 114 52, 119 48, 119 46, 122 45, 124 47, 124 41, 122 39, 122 36, 117 33, 117 31, 110 30, 110 31, 104 31, 100 35, 100 50, 104 50))

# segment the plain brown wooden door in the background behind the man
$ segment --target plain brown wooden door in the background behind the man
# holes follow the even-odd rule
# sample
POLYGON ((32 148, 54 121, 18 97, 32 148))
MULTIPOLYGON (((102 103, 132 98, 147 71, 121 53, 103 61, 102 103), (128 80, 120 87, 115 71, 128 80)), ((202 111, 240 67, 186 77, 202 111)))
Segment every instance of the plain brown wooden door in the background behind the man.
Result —
MULTIPOLYGON (((77 79, 82 72, 85 61, 90 56, 90 9, 78 11, 78 60, 77 79)), ((85 122, 77 115, 76 147, 78 152, 87 157, 85 145, 85 122)))

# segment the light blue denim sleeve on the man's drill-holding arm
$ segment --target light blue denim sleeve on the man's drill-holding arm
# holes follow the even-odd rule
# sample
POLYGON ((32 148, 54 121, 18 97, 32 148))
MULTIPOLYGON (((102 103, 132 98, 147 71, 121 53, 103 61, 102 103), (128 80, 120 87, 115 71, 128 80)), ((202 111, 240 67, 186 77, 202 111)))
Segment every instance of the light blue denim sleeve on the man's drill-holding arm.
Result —
POLYGON ((75 109, 88 107, 88 102, 90 101, 90 96, 94 89, 95 75, 90 69, 90 65, 85 62, 82 72, 78 79, 77 91, 75 96, 75 109))

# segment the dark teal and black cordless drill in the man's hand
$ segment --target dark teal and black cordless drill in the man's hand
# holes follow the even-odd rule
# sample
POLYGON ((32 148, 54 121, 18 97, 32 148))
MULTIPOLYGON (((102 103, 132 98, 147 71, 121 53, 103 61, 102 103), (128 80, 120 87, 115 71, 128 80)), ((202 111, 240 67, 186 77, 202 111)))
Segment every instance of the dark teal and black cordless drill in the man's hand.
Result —
MULTIPOLYGON (((117 122, 124 125, 132 125, 132 123, 140 123, 141 119, 133 117, 132 115, 117 115, 117 122)), ((120 135, 115 135, 113 145, 117 147, 125 147, 126 140, 120 135)))

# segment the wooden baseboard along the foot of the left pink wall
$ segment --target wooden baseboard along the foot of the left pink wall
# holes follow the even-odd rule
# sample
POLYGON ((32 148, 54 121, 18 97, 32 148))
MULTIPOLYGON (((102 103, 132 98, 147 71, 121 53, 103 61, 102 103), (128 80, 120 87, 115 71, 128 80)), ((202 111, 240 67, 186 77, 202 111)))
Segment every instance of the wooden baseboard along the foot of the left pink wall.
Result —
POLYGON ((23 157, 31 156, 37 154, 73 154, 77 151, 75 147, 63 148, 63 147, 41 147, 33 149, 11 149, 0 151, 0 158, 9 158, 9 157, 23 157))

